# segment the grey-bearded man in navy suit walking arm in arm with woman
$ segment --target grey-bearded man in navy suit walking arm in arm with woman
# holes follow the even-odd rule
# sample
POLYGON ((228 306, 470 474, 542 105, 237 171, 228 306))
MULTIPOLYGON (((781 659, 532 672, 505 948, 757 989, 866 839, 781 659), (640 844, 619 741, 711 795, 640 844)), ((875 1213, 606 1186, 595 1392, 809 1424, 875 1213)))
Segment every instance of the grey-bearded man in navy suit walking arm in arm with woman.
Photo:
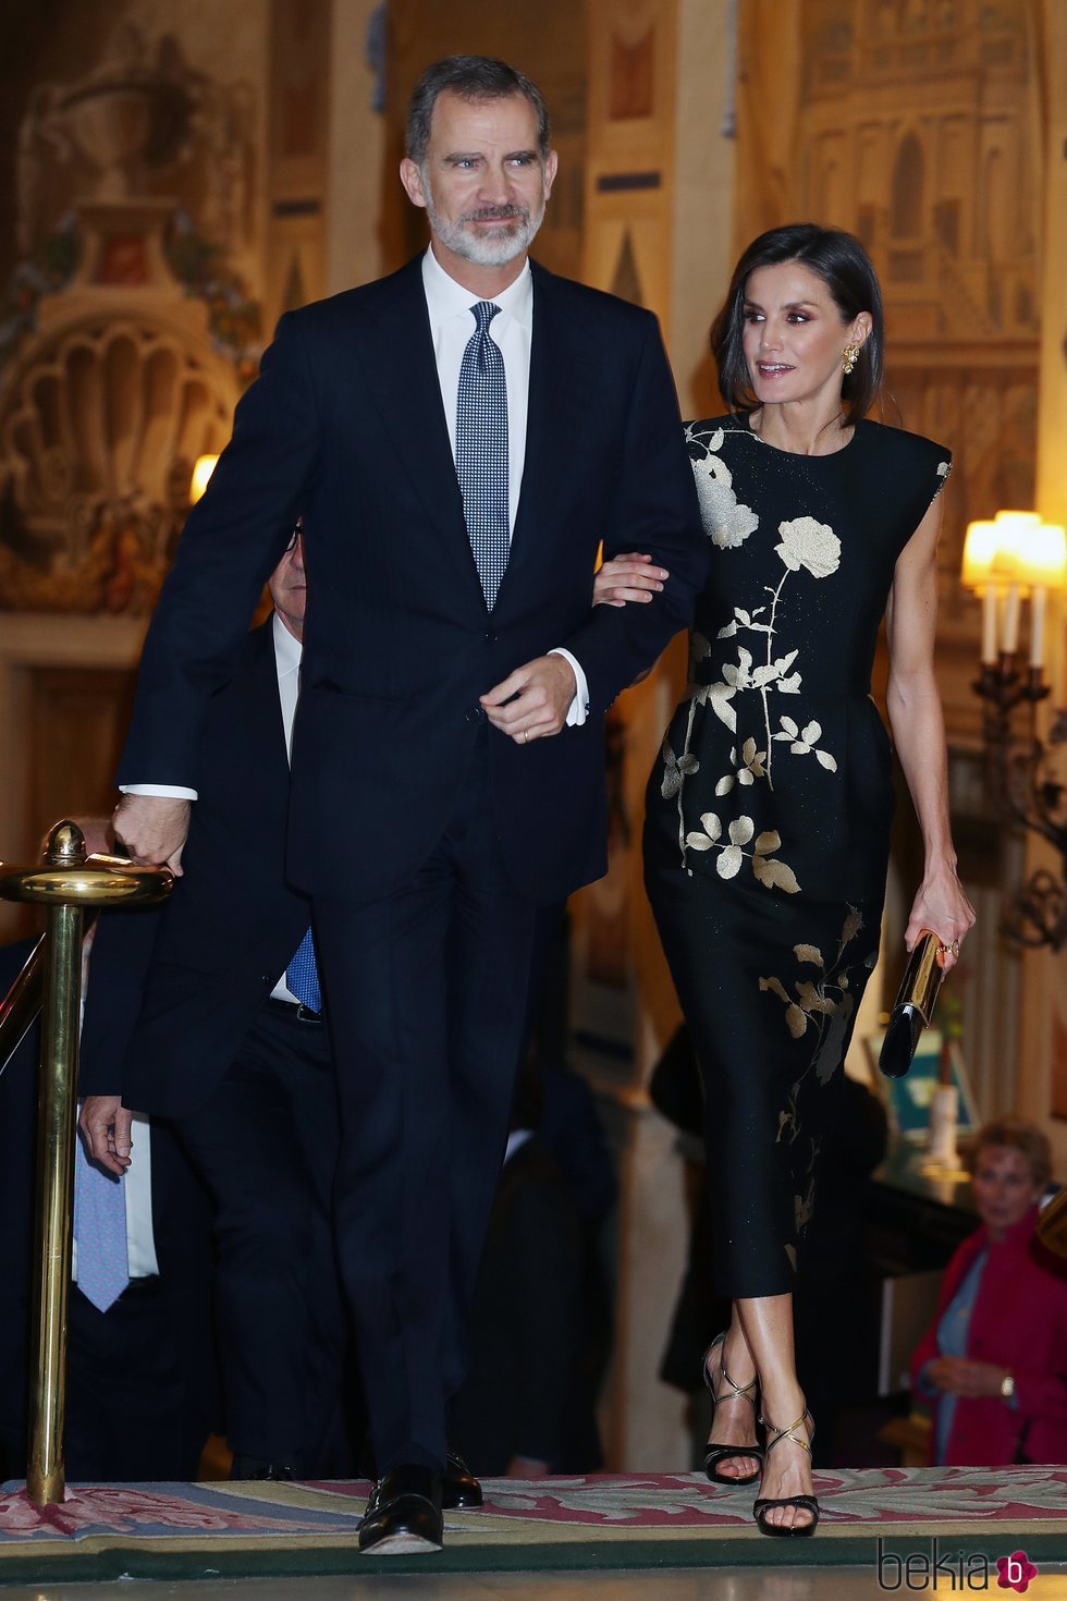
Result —
POLYGON ((522 74, 422 75, 400 176, 430 250, 282 319, 179 543, 120 772, 154 791, 115 815, 134 860, 181 866, 205 704, 299 509, 288 863, 338 1061, 379 1553, 442 1543, 536 911, 605 871, 603 714, 704 575, 654 319, 528 264, 555 167, 522 74), (669 572, 649 605, 592 608, 601 543, 669 572))

